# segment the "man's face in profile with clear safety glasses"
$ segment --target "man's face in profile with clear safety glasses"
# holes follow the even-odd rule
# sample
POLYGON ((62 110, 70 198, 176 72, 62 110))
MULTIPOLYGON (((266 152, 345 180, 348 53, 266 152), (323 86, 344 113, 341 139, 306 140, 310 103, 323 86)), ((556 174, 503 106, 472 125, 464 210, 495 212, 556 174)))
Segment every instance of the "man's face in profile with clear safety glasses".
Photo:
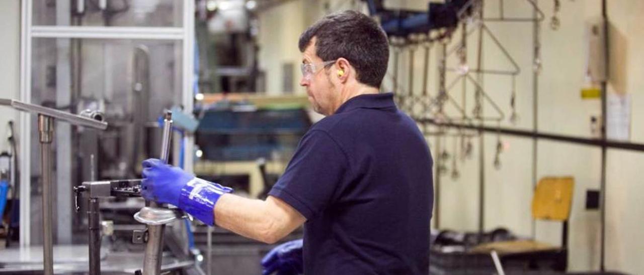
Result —
POLYGON ((314 111, 326 116, 335 112, 338 95, 335 86, 329 78, 332 64, 325 66, 324 61, 316 54, 316 37, 311 39, 308 47, 302 53, 302 64, 308 66, 307 73, 302 75, 299 85, 307 88, 308 101, 314 111))

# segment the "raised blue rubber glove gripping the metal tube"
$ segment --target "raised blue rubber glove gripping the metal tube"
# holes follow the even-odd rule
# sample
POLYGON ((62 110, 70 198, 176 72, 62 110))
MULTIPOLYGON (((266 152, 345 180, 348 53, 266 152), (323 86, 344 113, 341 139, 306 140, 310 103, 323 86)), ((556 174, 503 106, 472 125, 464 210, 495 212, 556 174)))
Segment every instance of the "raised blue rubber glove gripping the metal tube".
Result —
POLYGON ((232 192, 232 188, 204 181, 159 159, 143 161, 141 186, 146 200, 172 204, 209 226, 214 225, 214 204, 232 192))

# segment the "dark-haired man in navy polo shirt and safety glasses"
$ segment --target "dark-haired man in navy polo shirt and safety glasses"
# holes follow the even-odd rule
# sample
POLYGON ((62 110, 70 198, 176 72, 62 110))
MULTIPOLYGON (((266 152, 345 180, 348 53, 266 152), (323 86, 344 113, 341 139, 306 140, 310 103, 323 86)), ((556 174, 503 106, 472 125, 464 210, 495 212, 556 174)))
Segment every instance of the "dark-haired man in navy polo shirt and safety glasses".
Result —
POLYGON ((143 164, 144 197, 268 244, 304 224, 307 275, 428 274, 433 163, 415 122, 379 94, 386 35, 346 11, 308 28, 299 49, 300 85, 327 117, 302 137, 266 200, 155 159, 143 164))

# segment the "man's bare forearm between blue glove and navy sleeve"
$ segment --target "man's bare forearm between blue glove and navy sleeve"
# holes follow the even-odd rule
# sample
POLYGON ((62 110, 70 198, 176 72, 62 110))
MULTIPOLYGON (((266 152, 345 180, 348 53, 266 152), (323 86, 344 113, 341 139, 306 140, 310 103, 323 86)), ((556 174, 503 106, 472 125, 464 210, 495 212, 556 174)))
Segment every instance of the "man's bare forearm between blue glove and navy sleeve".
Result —
POLYGON ((297 211, 274 197, 246 199, 224 194, 214 206, 215 224, 225 229, 272 244, 305 222, 297 211))

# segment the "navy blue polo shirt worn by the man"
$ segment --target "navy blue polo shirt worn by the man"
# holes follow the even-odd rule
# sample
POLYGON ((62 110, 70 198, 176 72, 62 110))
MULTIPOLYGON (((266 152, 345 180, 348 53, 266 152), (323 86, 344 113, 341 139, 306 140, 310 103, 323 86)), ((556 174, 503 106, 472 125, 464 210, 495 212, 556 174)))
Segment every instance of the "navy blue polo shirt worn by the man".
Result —
POLYGON ((269 193, 307 218, 304 274, 428 274, 432 164, 391 93, 313 125, 269 193))

